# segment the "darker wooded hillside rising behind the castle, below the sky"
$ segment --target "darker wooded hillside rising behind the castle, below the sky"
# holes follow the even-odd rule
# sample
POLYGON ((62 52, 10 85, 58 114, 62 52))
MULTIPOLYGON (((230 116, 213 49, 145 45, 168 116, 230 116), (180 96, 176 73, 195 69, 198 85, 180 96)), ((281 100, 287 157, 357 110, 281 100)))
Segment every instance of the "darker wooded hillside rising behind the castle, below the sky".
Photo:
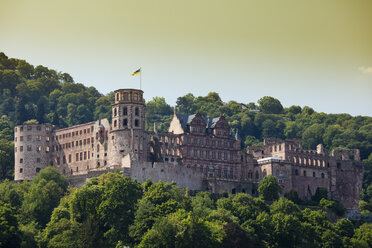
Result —
MULTIPOLYGON (((0 179, 12 179, 15 125, 37 121, 66 127, 110 119, 113 100, 112 93, 103 95, 94 87, 76 83, 68 73, 0 53, 0 179)), ((149 100, 146 107, 147 130, 151 131, 153 122, 157 122, 159 129, 166 131, 173 107, 163 97, 149 100)), ((265 137, 277 137, 302 139, 304 148, 309 149, 315 149, 319 143, 329 151, 360 149, 366 168, 363 204, 372 211, 372 117, 318 113, 307 106, 284 108, 279 100, 269 96, 257 103, 250 99, 246 103, 223 102, 216 92, 181 96, 175 107, 184 114, 224 115, 242 137, 243 147, 261 144, 265 137)))

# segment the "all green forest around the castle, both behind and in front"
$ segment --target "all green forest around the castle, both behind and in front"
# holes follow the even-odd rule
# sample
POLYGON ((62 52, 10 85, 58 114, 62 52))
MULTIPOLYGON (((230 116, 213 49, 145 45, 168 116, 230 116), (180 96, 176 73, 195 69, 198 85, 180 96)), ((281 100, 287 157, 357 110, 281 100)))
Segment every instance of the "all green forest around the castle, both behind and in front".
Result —
MULTIPOLYGON (((113 101, 112 92, 103 95, 74 82, 68 73, 0 52, 0 180, 13 178, 15 125, 67 127, 110 119, 113 101)), ((307 149, 319 143, 329 151, 360 149, 365 166, 360 208, 362 213, 372 212, 372 117, 318 113, 308 106, 285 108, 269 96, 257 103, 223 102, 216 92, 181 96, 175 108, 184 114, 224 115, 242 137, 242 148, 276 137, 302 139, 307 149)), ((152 131, 156 122, 166 131, 172 115, 173 107, 163 97, 147 101, 146 129, 152 131)), ((272 203, 238 194, 217 200, 207 193, 189 196, 172 184, 141 185, 116 174, 79 190, 68 189, 63 176, 47 171, 32 182, 0 184, 0 235, 5 235, 0 236, 0 247, 8 244, 3 237, 18 242, 14 247, 95 247, 89 242, 101 247, 209 247, 196 241, 216 244, 213 247, 238 247, 236 242, 252 247, 342 247, 335 246, 340 240, 345 247, 371 246, 372 233, 366 231, 370 225, 346 219, 330 222, 325 210, 334 204, 318 202, 319 209, 309 210, 285 198, 272 203)))

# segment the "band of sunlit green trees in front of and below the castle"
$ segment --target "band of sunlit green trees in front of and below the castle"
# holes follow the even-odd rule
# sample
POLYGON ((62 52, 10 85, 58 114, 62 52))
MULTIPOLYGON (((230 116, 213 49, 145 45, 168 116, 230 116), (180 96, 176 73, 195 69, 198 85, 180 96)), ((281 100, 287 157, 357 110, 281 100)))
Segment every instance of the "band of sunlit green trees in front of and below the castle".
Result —
POLYGON ((343 209, 321 198, 326 192, 310 208, 294 203, 293 193, 279 198, 274 176, 260 182, 260 198, 191 195, 175 183, 140 184, 119 172, 80 189, 67 185, 52 167, 31 182, 1 183, 0 247, 372 246, 371 223, 337 217, 343 209))

